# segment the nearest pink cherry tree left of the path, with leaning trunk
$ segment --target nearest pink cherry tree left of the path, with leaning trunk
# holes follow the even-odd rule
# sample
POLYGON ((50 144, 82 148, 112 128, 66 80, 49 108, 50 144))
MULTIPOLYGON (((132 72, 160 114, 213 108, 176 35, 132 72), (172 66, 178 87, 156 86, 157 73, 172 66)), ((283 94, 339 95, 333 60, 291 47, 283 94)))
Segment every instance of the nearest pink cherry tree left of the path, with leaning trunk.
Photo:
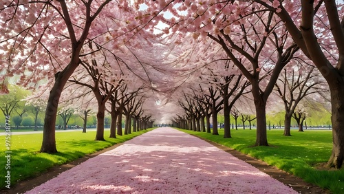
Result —
MULTIPOLYGON (((0 6, 1 91, 9 78, 34 88, 49 80, 41 152, 55 153, 58 103, 67 80, 94 42, 102 50, 140 47, 136 34, 153 34, 146 27, 155 14, 142 15, 129 1, 5 1, 0 6)), ((153 21, 152 21, 153 23, 153 21)), ((131 55, 132 56, 132 55, 131 55)), ((126 60, 137 61, 136 57, 126 60)), ((116 63, 116 60, 115 60, 116 63)))

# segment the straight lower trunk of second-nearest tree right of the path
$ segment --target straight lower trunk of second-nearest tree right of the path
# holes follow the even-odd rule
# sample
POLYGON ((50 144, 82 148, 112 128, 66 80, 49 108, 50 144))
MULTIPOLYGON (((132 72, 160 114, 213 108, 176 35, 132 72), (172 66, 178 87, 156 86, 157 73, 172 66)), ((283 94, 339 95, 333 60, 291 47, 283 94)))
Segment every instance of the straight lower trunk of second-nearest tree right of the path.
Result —
POLYGON ((263 101, 255 101, 257 114, 257 137, 255 146, 268 146, 268 138, 266 136, 266 103, 263 101))

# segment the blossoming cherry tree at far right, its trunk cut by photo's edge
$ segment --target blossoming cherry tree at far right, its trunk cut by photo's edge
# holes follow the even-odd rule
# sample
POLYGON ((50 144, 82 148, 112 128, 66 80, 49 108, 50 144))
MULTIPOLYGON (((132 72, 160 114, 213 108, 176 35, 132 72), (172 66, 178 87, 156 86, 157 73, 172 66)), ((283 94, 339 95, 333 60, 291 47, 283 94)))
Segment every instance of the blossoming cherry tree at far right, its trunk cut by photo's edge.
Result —
POLYGON ((333 147, 328 166, 340 169, 344 162, 343 3, 336 1, 255 1, 272 10, 305 56, 319 69, 330 87, 333 147), (299 14, 301 11, 301 14, 299 14))

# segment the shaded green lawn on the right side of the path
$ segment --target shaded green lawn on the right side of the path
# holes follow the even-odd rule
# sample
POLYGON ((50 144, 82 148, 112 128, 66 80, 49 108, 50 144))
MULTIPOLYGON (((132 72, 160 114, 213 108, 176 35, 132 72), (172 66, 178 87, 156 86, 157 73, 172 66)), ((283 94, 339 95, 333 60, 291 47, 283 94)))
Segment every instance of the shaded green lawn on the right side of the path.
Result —
POLYGON ((332 151, 332 131, 292 130, 292 136, 283 136, 283 130, 268 130, 269 147, 252 147, 255 144, 256 130, 231 129, 232 138, 223 138, 224 130, 219 129, 219 136, 211 133, 181 130, 236 149, 272 166, 301 177, 306 182, 330 189, 332 193, 344 193, 344 169, 318 170, 316 164, 329 160, 332 151))

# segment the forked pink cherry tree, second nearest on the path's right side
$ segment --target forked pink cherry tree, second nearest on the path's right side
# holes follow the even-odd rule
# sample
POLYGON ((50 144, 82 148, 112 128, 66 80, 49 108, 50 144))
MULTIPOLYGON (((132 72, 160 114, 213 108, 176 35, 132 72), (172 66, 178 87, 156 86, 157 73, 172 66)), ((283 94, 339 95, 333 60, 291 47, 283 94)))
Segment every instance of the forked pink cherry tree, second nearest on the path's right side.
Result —
MULTIPOLYGON (((162 4, 166 6, 167 3, 162 4)), ((149 6, 154 5, 149 3, 149 6)), ((178 15, 166 22, 167 25, 173 23, 169 25, 171 30, 193 34, 195 44, 208 42, 206 37, 210 38, 222 47, 228 58, 250 81, 257 114, 256 145, 268 145, 266 102, 279 72, 298 50, 283 28, 281 19, 274 11, 262 8, 257 3, 246 1, 184 1, 180 6, 166 8, 178 15)), ((206 62, 213 60, 197 57, 206 62)))

